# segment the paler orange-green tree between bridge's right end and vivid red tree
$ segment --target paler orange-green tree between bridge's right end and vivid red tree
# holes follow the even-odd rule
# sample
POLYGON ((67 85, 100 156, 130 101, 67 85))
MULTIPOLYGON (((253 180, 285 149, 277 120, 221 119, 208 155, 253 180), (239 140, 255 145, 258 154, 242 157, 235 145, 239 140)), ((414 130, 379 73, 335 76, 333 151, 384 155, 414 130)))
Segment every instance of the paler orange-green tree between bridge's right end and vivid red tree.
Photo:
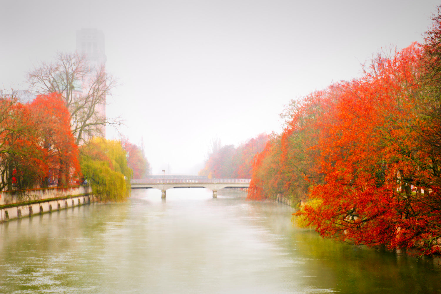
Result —
POLYGON ((332 97, 332 91, 318 91, 291 101, 282 115, 287 119, 283 133, 273 135, 254 161, 248 199, 275 199, 281 194, 297 203, 308 197, 310 184, 321 180, 318 151, 312 149, 321 128, 317 119, 332 108, 332 97))

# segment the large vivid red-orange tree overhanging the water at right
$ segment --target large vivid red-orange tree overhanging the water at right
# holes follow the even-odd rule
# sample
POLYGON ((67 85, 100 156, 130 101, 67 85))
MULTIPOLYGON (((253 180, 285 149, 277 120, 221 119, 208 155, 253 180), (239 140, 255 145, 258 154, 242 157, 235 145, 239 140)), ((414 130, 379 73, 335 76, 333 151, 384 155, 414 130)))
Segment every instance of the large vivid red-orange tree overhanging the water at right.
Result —
POLYGON ((389 249, 441 251, 441 217, 430 198, 437 168, 419 142, 426 101, 419 86, 421 50, 378 55, 364 76, 342 82, 333 108, 320 116, 317 145, 320 205, 298 215, 326 237, 389 249))

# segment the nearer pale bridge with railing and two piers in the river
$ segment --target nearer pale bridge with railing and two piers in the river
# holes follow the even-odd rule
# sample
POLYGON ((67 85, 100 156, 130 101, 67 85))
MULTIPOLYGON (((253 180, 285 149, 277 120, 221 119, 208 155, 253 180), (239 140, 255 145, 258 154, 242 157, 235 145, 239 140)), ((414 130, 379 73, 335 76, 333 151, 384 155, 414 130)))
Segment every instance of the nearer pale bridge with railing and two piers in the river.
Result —
POLYGON ((223 188, 248 188, 251 179, 141 179, 131 180, 132 189, 158 189, 161 197, 165 191, 172 188, 208 188, 217 197, 217 190, 223 188))

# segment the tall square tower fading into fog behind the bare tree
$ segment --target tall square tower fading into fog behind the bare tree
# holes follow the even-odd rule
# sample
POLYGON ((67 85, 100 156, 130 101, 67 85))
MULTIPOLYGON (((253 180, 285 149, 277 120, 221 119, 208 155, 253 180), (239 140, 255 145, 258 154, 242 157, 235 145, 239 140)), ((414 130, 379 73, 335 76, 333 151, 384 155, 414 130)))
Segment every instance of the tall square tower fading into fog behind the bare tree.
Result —
MULTIPOLYGON (((95 68, 105 66, 107 57, 104 50, 104 33, 97 29, 81 29, 77 30, 76 50, 78 52, 86 53, 90 69, 91 77, 96 73, 95 68)), ((95 109, 101 116, 106 115, 106 99, 100 103, 95 109)), ((105 126, 100 126, 100 130, 105 137, 105 126)))

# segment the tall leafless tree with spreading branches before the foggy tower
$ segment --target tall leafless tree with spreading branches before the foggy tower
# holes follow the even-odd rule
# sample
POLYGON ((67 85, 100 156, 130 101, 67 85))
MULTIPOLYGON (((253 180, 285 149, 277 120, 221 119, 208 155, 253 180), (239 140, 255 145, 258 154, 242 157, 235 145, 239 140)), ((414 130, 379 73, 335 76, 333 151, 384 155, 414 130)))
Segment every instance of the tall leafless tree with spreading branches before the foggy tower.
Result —
POLYGON ((57 52, 53 63, 34 67, 26 80, 37 93, 61 93, 71 113, 77 145, 92 136, 104 136, 105 126, 122 124, 120 118, 105 116, 105 98, 116 86, 115 78, 105 71, 104 64, 91 67, 86 54, 57 52))

